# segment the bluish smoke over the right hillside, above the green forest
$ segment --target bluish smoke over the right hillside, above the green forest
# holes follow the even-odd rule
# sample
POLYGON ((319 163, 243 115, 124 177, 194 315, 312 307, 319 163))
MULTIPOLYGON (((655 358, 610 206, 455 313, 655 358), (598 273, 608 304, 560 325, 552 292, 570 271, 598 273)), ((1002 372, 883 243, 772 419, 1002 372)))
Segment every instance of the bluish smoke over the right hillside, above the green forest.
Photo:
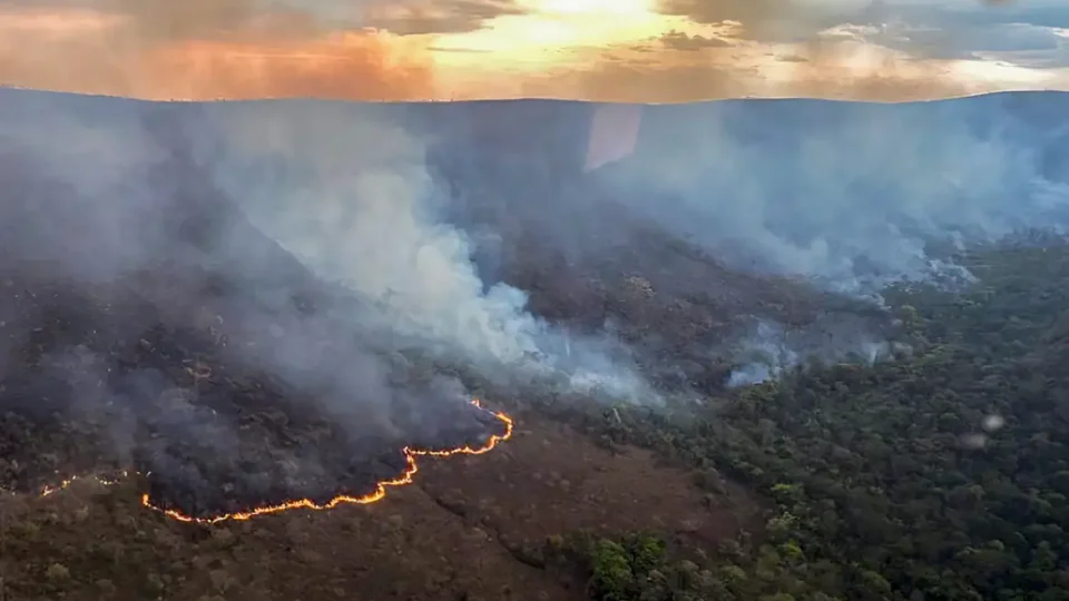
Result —
POLYGON ((756 363, 729 342, 767 346, 742 323, 783 332, 795 358, 769 375, 877 361, 887 284, 968 285, 972 245, 1061 228, 1061 99, 458 105, 433 110, 433 162, 458 219, 497 240, 484 269, 537 313, 615 322, 644 370, 709 382, 702 365, 756 363))

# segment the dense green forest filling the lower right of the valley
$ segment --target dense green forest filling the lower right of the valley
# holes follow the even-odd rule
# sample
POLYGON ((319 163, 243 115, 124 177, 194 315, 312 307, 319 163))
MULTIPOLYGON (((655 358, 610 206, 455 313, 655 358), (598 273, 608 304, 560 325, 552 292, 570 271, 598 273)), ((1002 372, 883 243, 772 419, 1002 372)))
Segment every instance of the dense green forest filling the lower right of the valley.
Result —
POLYGON ((686 559, 569 540, 591 598, 1069 599, 1069 246, 960 260, 979 276, 963 294, 887 290, 912 347, 891 361, 798 368, 675 417, 549 407, 774 501, 762 532, 686 559))

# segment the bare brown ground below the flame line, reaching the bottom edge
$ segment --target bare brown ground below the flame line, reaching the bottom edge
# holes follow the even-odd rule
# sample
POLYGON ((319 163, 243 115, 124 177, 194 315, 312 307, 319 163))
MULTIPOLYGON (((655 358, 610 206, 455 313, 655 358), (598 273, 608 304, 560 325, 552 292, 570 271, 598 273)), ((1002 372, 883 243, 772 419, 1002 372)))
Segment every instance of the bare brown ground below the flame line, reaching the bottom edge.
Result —
POLYGON ((7 593, 581 600, 585 583, 547 565, 553 538, 649 530, 707 543, 757 511, 744 492, 709 496, 647 452, 609 451, 537 417, 520 424, 498 452, 428 459, 414 485, 330 512, 182 524, 141 508, 133 483, 0 499, 7 593))

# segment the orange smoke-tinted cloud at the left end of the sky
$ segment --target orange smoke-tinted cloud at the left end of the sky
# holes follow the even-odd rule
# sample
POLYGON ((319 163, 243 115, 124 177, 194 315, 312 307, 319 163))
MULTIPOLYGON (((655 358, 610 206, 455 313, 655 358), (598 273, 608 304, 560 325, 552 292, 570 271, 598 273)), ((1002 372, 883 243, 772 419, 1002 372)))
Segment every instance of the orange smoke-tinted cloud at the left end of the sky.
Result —
POLYGON ((430 53, 396 36, 335 29, 253 0, 0 4, 0 81, 154 99, 433 95, 430 53))

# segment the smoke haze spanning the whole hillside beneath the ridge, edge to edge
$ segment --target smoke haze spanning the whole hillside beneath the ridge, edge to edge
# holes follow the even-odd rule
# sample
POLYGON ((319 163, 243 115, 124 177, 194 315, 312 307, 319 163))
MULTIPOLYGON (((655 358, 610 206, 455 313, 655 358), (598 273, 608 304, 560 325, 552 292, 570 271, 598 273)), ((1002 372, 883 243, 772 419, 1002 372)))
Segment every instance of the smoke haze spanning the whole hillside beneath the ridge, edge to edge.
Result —
MULTIPOLYGON (((4 205, 21 225, 3 243, 86 286, 157 273, 141 284, 153 311, 228 337, 235 364, 353 432, 434 439, 470 423, 413 407, 469 394, 419 357, 647 403, 666 382, 876 361, 889 318, 865 299, 883 285, 968 282, 955 248, 1065 224, 1060 101, 607 110, 6 91, 3 176, 22 201, 4 205), (216 275, 168 270, 187 259, 216 275), (202 298, 219 273, 241 294, 202 298)), ((134 336, 149 316, 130 315, 117 327, 134 336)), ((136 381, 167 390, 154 377, 136 381)))

